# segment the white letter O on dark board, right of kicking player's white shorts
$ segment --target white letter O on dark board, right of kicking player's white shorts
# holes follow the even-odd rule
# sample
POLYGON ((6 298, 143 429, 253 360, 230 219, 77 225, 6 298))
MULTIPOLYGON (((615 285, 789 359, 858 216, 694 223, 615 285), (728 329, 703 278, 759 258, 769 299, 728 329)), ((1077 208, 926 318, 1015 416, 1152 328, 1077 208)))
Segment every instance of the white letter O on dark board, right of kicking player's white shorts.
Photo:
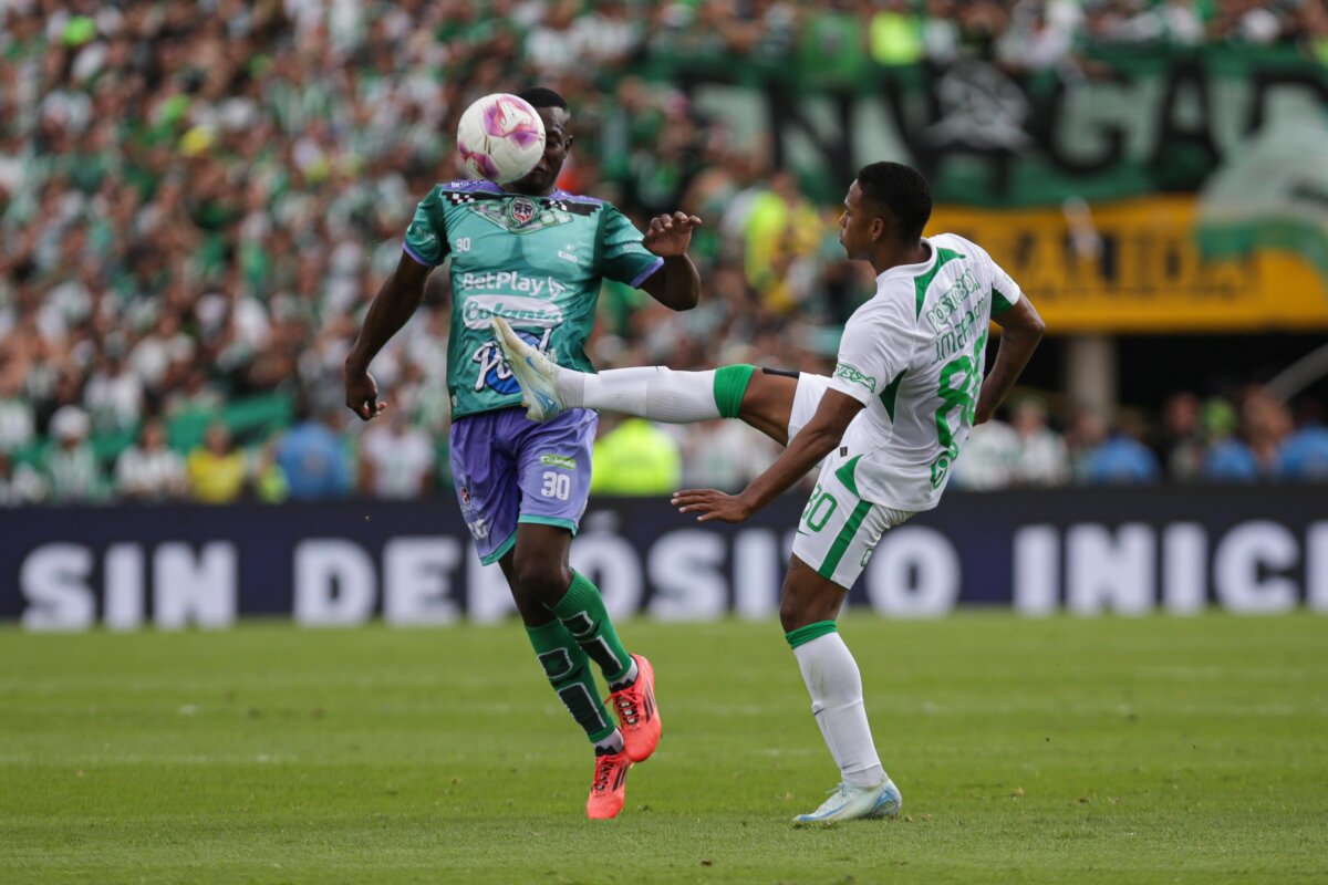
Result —
POLYGON ((940 617, 959 601, 960 572, 955 545, 936 529, 892 528, 867 560, 867 597, 880 614, 940 617))

